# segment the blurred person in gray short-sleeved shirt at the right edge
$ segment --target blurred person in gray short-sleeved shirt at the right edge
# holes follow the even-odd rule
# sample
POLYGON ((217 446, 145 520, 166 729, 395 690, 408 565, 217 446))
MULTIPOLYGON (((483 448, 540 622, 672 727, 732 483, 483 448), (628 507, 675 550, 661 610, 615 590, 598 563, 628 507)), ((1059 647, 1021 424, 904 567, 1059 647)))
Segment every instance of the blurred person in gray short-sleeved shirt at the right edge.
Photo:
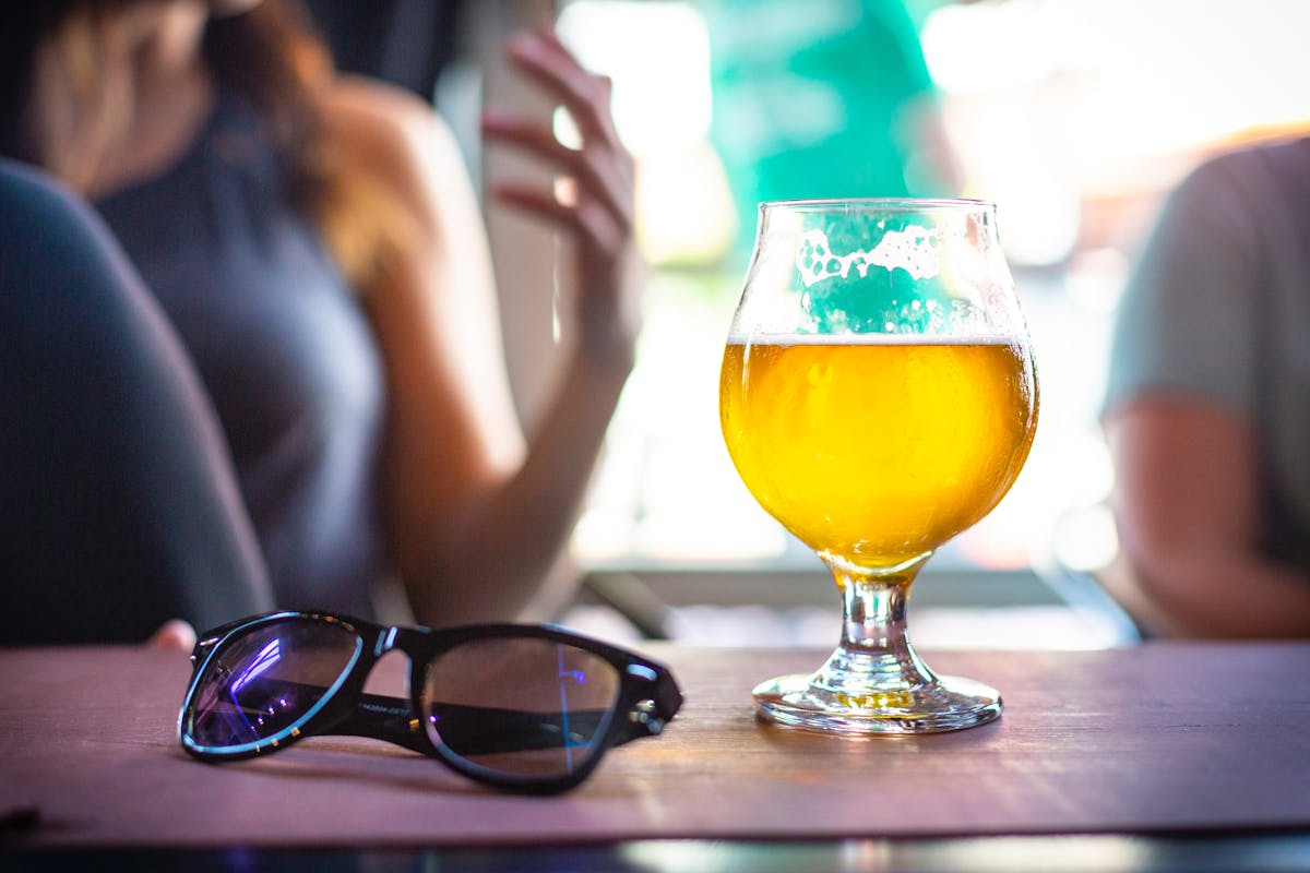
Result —
POLYGON ((1310 636, 1310 139, 1212 158, 1127 287, 1103 423, 1128 573, 1166 636, 1310 636))

